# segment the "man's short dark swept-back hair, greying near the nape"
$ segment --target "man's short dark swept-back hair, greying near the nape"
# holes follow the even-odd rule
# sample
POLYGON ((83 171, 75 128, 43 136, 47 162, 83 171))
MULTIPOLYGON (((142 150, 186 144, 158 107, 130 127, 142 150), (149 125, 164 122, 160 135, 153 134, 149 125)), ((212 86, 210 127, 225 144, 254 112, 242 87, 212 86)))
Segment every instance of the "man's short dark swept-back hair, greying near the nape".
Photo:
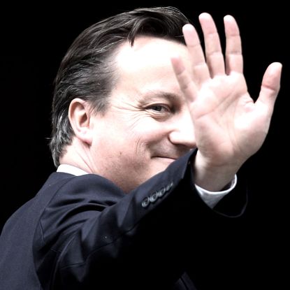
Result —
POLYGON ((174 7, 136 8, 108 17, 88 27, 75 38, 61 61, 52 101, 50 150, 55 166, 64 146, 71 144, 73 129, 68 107, 75 98, 104 113, 117 79, 114 52, 120 44, 131 45, 139 35, 168 38, 184 43, 182 27, 189 20, 174 7))

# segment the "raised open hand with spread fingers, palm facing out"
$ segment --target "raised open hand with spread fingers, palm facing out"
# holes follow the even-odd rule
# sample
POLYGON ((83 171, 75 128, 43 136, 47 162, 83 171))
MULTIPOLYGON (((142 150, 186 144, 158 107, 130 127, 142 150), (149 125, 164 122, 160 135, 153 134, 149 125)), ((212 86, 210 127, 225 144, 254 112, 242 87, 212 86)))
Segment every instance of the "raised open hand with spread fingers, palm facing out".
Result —
POLYGON ((172 64, 194 123, 198 147, 196 182, 209 190, 219 190, 263 144, 280 89, 282 65, 268 66, 254 102, 243 75, 240 32, 235 19, 224 17, 225 57, 211 15, 202 13, 199 21, 205 52, 196 29, 186 24, 183 34, 191 70, 179 57, 173 57, 172 64), (212 184, 208 185, 208 180, 212 184))

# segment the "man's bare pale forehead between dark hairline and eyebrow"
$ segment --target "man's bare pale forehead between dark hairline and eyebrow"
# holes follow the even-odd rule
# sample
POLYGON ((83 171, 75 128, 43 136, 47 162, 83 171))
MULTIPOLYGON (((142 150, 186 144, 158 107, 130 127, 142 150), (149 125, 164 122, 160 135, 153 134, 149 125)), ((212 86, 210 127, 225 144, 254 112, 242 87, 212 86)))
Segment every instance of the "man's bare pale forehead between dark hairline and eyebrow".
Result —
POLYGON ((136 92, 136 95, 164 89, 180 94, 171 64, 171 57, 175 55, 180 55, 189 66, 189 54, 182 43, 150 36, 139 36, 133 46, 129 42, 122 43, 115 55, 117 89, 136 92))

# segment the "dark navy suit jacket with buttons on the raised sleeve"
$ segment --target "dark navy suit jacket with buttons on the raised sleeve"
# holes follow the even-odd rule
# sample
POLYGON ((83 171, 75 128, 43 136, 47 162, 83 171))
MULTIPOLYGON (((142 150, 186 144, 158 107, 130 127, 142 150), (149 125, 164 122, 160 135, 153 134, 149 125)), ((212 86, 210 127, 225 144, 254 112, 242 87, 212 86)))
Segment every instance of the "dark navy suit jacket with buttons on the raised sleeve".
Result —
POLYGON ((190 159, 129 194, 99 175, 52 173, 3 228, 0 289, 195 289, 185 272, 197 237, 227 217, 196 193, 190 159))

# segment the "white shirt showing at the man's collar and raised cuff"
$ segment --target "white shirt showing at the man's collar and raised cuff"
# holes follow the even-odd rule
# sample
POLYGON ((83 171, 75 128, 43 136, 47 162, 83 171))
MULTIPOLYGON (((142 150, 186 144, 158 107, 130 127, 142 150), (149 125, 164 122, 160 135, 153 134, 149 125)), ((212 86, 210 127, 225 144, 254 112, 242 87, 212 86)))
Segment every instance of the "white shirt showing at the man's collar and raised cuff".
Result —
MULTIPOLYGON (((86 171, 83 171, 82 169, 78 167, 68 165, 68 164, 59 165, 59 167, 57 168, 57 172, 70 173, 76 176, 88 174, 86 171)), ((203 201, 210 208, 213 208, 224 196, 226 196, 226 194, 229 194, 229 192, 235 188, 236 184, 237 184, 237 176, 235 175, 229 189, 226 189, 223 191, 208 191, 206 189, 198 187, 198 185, 196 184, 195 184, 195 187, 196 187, 196 190, 198 191, 198 194, 203 199, 203 201)))

